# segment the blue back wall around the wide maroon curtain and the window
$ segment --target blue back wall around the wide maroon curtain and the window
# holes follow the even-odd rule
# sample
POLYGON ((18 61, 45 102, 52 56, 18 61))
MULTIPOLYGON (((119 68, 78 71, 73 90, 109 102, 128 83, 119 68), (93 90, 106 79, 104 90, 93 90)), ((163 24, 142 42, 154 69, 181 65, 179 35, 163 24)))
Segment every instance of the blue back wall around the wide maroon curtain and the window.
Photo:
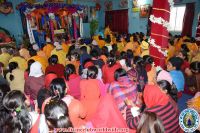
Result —
MULTIPOLYGON (((153 0, 138 0, 140 5, 144 4, 150 4, 152 5, 153 0)), ((101 4, 101 11, 99 12, 99 22, 100 22, 100 29, 105 27, 105 8, 104 8, 104 2, 105 0, 102 0, 100 2, 101 4)), ((119 8, 119 2, 120 0, 112 0, 113 2, 113 10, 120 10, 119 8)), ((182 2, 176 3, 176 4, 185 4, 185 3, 191 3, 196 2, 195 6, 195 16, 194 16, 194 22, 192 27, 192 35, 195 36, 196 34, 196 27, 197 27, 197 16, 198 13, 200 13, 200 0, 182 0, 182 2)), ((129 22, 129 33, 134 32, 144 32, 146 33, 147 18, 140 18, 139 12, 134 13, 132 11, 132 0, 128 0, 128 22, 129 22)), ((180 33, 176 33, 180 34, 180 33)))

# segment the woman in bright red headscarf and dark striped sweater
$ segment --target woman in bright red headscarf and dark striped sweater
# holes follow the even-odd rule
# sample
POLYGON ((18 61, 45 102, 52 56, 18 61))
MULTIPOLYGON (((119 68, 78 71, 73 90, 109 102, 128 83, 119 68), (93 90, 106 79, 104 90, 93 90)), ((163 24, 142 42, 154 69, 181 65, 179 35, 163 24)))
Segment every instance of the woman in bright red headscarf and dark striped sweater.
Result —
MULTIPOLYGON (((169 96, 156 85, 146 85, 143 94, 146 105, 145 111, 154 112, 162 121, 165 133, 180 132, 177 106, 173 106, 169 96)), ((126 123, 129 128, 136 129, 142 113, 133 116, 134 109, 128 104, 126 123)))

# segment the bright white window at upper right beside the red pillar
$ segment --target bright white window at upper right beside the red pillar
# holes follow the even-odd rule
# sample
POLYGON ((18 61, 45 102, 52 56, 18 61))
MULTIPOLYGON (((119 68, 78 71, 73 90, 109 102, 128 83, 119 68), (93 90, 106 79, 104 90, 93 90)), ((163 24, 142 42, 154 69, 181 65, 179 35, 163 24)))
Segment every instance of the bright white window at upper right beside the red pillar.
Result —
POLYGON ((181 32, 183 27, 183 17, 185 14, 185 5, 174 6, 170 13, 170 31, 181 32))

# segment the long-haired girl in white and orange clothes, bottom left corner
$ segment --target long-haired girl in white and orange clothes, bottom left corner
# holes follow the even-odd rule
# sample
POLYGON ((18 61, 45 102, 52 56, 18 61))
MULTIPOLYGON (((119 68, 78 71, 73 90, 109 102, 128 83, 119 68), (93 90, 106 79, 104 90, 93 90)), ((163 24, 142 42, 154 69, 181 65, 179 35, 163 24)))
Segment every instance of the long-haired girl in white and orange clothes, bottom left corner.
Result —
POLYGON ((18 90, 9 92, 3 99, 3 105, 8 110, 9 117, 5 121, 3 132, 7 133, 47 133, 44 115, 28 112, 29 101, 18 90))

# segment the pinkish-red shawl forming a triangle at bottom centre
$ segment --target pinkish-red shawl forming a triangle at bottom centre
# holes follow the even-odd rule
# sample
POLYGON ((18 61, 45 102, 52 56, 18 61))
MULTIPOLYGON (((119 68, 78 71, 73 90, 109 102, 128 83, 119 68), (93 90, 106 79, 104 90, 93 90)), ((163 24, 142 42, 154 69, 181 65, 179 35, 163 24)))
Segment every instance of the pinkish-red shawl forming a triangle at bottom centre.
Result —
POLYGON ((96 113, 91 118, 94 128, 127 128, 129 133, 134 133, 134 130, 128 129, 121 112, 119 111, 114 98, 110 94, 101 97, 96 113))

